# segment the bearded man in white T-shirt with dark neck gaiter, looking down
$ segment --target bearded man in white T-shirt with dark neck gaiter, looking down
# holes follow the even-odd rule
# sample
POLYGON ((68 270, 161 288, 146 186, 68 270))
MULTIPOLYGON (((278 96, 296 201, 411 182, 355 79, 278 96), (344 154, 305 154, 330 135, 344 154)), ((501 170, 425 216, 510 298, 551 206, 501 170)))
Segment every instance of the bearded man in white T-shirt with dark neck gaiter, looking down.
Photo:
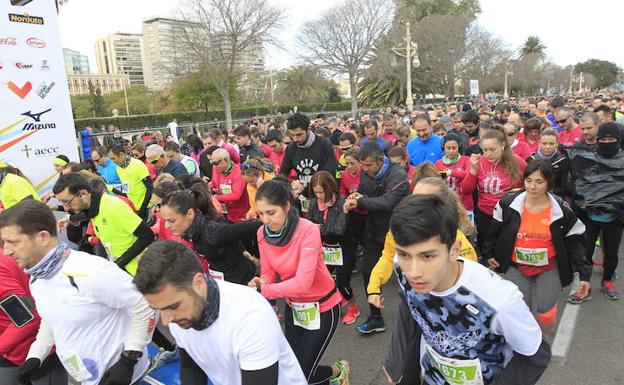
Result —
POLYGON ((181 348, 181 383, 308 383, 269 303, 253 289, 206 276, 187 247, 152 244, 134 283, 181 348))

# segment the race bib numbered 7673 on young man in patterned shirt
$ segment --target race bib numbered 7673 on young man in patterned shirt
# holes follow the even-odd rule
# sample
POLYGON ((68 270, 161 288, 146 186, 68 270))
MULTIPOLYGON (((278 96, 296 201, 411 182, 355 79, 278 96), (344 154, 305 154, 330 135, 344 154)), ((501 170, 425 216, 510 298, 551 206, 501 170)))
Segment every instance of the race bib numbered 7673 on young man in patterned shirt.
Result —
POLYGON ((483 385, 483 373, 479 359, 457 360, 446 358, 426 345, 431 364, 452 385, 483 385))

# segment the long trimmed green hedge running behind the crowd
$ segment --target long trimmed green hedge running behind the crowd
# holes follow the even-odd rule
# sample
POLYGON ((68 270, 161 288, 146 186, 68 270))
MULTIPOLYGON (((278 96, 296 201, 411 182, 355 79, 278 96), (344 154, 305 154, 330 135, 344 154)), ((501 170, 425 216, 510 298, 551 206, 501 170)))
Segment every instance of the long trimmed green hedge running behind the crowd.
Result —
MULTIPOLYGON (((288 113, 292 106, 277 106, 276 111, 288 113)), ((351 110, 351 102, 326 103, 316 105, 298 106, 299 112, 317 112, 317 111, 349 111, 351 110)), ((272 112, 266 106, 250 106, 232 109, 232 119, 246 119, 254 115, 266 116, 272 112)), ((143 129, 144 127, 164 127, 176 118, 179 124, 187 124, 194 122, 212 121, 214 118, 225 120, 225 112, 223 110, 193 111, 193 112, 176 112, 170 114, 152 114, 152 115, 133 115, 105 118, 89 118, 75 119, 74 124, 76 130, 83 130, 87 126, 100 127, 101 125, 114 124, 115 126, 126 130, 143 129)))

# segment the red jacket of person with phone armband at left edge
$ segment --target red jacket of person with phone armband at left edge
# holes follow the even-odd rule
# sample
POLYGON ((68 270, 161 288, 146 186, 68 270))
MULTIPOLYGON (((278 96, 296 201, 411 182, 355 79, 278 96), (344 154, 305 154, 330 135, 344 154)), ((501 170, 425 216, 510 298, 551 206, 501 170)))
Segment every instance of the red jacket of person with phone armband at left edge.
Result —
MULTIPOLYGON (((11 294, 18 297, 30 297, 28 276, 19 268, 13 258, 4 255, 0 249, 0 300, 11 294)), ((32 298, 32 297, 31 297, 32 298)), ((34 303, 34 301, 32 302, 34 303)), ((30 345, 35 341, 41 318, 34 310, 35 319, 18 328, 11 322, 4 311, 0 310, 0 357, 22 365, 30 345)))

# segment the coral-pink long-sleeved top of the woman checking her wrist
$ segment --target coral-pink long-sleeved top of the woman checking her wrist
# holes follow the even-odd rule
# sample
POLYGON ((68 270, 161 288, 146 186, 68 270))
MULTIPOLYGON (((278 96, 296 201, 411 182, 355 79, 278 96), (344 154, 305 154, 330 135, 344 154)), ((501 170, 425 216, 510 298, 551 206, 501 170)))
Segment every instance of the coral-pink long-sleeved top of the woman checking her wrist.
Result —
MULTIPOLYGON (((290 242, 285 246, 271 245, 264 239, 264 226, 258 229, 262 295, 268 299, 284 297, 286 302, 316 302, 335 287, 331 274, 323 261, 321 232, 317 224, 299 219, 290 242), (276 276, 280 282, 276 283, 276 276)), ((332 309, 343 301, 336 291, 322 302, 321 312, 332 309)))

